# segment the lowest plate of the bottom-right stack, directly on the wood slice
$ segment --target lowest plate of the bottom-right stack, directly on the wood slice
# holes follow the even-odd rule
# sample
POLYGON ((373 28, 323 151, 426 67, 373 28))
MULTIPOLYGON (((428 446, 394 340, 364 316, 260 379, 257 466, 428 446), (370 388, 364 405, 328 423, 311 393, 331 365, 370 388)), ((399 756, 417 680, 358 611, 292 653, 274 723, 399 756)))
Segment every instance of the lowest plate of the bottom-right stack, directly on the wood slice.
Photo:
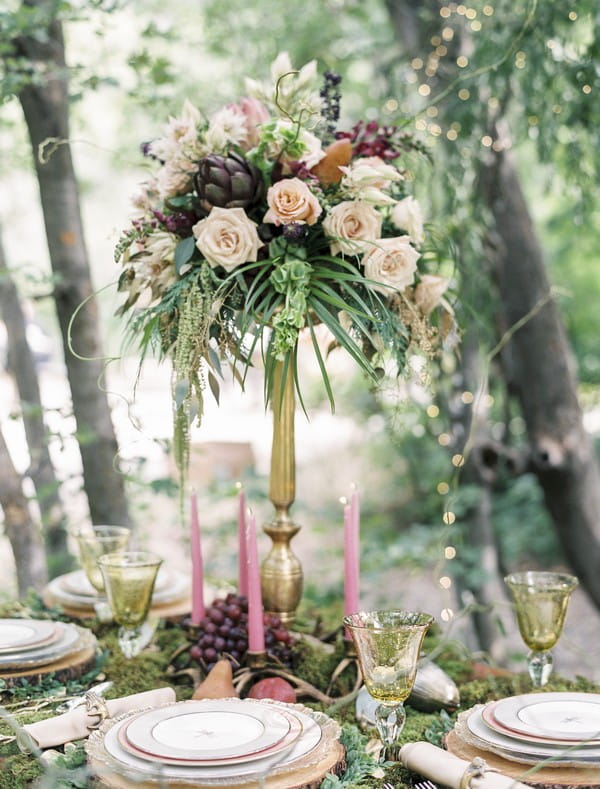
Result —
MULTIPOLYGON (((482 706, 474 707, 459 716, 470 735, 472 742, 479 748, 492 751, 511 761, 537 764, 543 759, 552 759, 548 767, 564 767, 566 765, 600 766, 600 747, 580 747, 570 743, 547 745, 538 742, 521 742, 490 729, 484 722, 482 706), (462 717, 464 716, 464 717, 462 717)), ((461 735, 461 726, 457 727, 461 735)))

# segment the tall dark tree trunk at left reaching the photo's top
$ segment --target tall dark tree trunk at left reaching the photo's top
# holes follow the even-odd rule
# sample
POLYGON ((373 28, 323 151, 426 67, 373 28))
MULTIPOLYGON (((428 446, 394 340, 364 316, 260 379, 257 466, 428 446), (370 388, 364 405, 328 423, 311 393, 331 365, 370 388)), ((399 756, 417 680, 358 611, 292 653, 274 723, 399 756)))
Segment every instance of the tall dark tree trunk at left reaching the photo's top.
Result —
MULTIPOLYGON (((31 0, 29 5, 51 8, 46 0, 31 0)), ((20 54, 31 61, 36 73, 46 76, 42 85, 24 87, 19 98, 31 139, 50 259, 57 279, 54 297, 77 423, 84 488, 92 522, 128 525, 124 481, 113 465, 118 459, 114 427, 106 395, 98 386, 103 374, 98 307, 92 297, 79 193, 68 144, 69 96, 60 23, 51 19, 45 32, 47 41, 39 36, 17 42, 20 54), (43 158, 40 146, 49 139, 59 144, 43 158), (85 307, 72 329, 73 352, 69 347, 69 322, 84 301, 85 307)))

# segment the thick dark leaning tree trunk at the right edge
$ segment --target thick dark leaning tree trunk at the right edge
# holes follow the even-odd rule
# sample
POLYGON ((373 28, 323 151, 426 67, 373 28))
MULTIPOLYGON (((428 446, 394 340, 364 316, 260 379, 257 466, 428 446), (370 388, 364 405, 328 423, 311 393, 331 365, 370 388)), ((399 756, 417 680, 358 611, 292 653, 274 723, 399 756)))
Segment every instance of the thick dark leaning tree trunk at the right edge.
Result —
POLYGON ((583 426, 571 349, 508 152, 494 154, 482 192, 500 242, 495 262, 504 328, 531 316, 503 355, 527 424, 531 467, 565 554, 600 608, 600 468, 583 426))

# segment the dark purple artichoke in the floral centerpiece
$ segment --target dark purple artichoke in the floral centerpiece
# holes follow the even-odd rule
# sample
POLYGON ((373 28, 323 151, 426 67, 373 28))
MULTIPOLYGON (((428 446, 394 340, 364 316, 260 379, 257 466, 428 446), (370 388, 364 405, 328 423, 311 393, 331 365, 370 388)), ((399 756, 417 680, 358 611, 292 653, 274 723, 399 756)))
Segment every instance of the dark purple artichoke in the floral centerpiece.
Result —
POLYGON ((248 208, 264 194, 260 170, 239 156, 210 154, 200 161, 194 185, 202 207, 248 208))

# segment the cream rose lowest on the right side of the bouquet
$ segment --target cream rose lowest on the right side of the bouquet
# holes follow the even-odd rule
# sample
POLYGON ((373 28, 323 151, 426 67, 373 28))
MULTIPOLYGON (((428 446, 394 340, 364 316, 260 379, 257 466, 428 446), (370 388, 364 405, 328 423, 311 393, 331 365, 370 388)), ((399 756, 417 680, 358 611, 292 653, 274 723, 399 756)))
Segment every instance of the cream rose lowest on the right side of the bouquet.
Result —
POLYGON ((362 259, 365 277, 375 281, 373 290, 386 295, 402 291, 413 283, 419 257, 408 236, 380 238, 362 259))

